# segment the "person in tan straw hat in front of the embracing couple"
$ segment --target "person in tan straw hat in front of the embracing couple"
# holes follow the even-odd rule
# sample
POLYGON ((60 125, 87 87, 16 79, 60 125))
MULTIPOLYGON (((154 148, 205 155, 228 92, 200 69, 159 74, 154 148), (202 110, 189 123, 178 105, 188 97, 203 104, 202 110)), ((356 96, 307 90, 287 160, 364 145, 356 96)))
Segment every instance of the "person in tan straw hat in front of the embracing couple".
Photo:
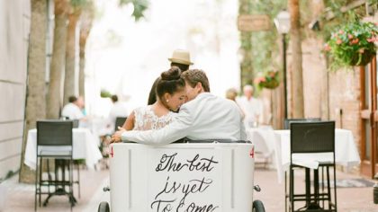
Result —
MULTIPOLYGON (((171 61, 171 67, 176 66, 180 68, 182 72, 189 69, 190 65, 193 65, 193 62, 190 60, 190 53, 189 51, 183 50, 183 49, 176 49, 172 57, 168 58, 169 61, 171 61)), ((154 104, 157 102, 157 82, 160 79, 160 77, 157 77, 154 84, 152 84, 151 90, 149 91, 148 95, 148 105, 154 104)))

